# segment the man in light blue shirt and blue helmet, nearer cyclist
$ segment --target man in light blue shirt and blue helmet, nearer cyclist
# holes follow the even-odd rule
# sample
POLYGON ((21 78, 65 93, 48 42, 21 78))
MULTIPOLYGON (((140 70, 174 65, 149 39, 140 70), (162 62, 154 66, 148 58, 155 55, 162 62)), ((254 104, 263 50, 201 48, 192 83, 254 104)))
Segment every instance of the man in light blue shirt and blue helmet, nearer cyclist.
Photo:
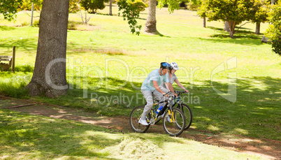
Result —
MULTIPOLYGON (((160 68, 157 68, 151 71, 147 78, 143 81, 143 85, 141 85, 141 93, 145 97, 147 104, 143 110, 143 115, 139 119, 139 123, 147 126, 147 122, 145 117, 150 112, 153 106, 153 97, 159 101, 163 101, 165 99, 164 95, 167 92, 170 92, 170 89, 173 88, 168 78, 168 71, 170 70, 170 65, 167 62, 162 62, 160 64, 160 68), (163 83, 166 88, 163 87, 163 83)), ((167 96, 167 95, 165 95, 167 96)), ((175 94, 176 96, 176 94, 175 94)), ((161 103, 159 106, 165 106, 166 103, 161 103)))

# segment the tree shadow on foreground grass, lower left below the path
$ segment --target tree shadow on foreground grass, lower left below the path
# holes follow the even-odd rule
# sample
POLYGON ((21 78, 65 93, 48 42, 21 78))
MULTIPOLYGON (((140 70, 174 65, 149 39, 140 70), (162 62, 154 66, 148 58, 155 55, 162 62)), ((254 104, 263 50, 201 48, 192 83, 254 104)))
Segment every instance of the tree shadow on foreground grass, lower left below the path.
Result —
POLYGON ((0 116, 2 129, 0 144, 7 146, 1 151, 10 157, 20 157, 20 152, 29 152, 30 154, 25 154, 25 158, 36 155, 41 159, 47 157, 108 159, 108 153, 96 150, 120 143, 120 139, 109 138, 101 132, 96 133, 95 131, 106 131, 99 126, 63 122, 61 119, 38 118, 10 110, 4 110, 4 113, 0 116))

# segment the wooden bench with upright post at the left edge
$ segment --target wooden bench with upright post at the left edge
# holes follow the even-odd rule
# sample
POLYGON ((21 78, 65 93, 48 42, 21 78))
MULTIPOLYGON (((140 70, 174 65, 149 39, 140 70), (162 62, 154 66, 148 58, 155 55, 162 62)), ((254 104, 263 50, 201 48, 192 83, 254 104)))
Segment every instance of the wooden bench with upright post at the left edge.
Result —
POLYGON ((0 55, 0 66, 2 71, 8 71, 9 68, 12 68, 12 72, 15 73, 15 46, 13 46, 13 56, 0 55))

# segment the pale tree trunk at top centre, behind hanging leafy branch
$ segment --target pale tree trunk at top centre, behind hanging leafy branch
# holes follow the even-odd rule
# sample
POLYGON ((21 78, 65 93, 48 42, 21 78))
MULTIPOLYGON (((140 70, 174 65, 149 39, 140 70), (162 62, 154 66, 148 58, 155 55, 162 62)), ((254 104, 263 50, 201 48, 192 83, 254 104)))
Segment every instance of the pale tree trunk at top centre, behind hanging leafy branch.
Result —
POLYGON ((146 33, 157 33, 156 29, 156 3, 157 0, 150 0, 148 6, 148 16, 145 22, 146 33))

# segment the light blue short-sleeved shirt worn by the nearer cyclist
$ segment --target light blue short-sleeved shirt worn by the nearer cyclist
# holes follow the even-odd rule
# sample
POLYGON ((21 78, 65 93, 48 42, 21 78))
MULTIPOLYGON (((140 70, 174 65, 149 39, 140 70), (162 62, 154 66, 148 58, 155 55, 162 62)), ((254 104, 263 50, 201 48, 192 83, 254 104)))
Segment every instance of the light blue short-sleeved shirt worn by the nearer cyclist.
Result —
POLYGON ((148 75, 147 78, 145 78, 145 81, 143 81, 143 85, 141 85, 141 90, 150 90, 150 91, 154 91, 154 85, 152 80, 156 80, 157 84, 160 86, 162 85, 164 82, 168 82, 168 73, 166 73, 166 75, 160 75, 159 74, 159 68, 158 69, 154 69, 153 71, 151 71, 148 75))

